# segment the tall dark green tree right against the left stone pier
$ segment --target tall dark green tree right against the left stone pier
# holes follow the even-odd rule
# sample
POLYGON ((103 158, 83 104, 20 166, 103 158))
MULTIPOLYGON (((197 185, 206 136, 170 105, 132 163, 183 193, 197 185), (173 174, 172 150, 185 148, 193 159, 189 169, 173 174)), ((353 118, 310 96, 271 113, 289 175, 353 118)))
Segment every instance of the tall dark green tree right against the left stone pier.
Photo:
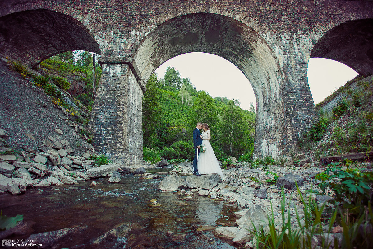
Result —
POLYGON ((142 140, 144 146, 154 147, 156 143, 156 127, 162 113, 158 99, 159 81, 152 74, 146 85, 147 90, 142 97, 142 140))

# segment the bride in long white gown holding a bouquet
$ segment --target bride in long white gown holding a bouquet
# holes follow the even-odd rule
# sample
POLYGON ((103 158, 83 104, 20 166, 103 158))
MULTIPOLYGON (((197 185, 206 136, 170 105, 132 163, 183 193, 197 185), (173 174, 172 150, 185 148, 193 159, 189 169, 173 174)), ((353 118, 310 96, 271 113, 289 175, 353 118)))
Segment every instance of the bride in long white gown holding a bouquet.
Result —
POLYGON ((216 156, 214 154, 214 150, 211 147, 210 139, 210 127, 207 123, 202 125, 203 133, 202 137, 202 144, 206 145, 206 151, 203 153, 202 151, 198 155, 198 172, 200 174, 213 174, 216 173, 220 175, 220 179, 223 178, 223 172, 220 168, 219 162, 217 162, 216 156))

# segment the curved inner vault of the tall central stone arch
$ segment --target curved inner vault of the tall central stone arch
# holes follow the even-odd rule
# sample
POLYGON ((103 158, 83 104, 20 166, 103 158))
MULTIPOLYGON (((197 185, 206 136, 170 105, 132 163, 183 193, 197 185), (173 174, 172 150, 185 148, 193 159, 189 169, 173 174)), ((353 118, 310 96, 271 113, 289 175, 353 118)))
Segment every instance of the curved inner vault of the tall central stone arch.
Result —
POLYGON ((255 155, 279 156, 282 149, 278 131, 285 122, 283 75, 277 57, 263 37, 228 16, 206 12, 181 15, 158 25, 142 39, 135 49, 133 64, 137 65, 141 81, 147 82, 163 62, 189 52, 218 55, 244 73, 257 101, 255 155))

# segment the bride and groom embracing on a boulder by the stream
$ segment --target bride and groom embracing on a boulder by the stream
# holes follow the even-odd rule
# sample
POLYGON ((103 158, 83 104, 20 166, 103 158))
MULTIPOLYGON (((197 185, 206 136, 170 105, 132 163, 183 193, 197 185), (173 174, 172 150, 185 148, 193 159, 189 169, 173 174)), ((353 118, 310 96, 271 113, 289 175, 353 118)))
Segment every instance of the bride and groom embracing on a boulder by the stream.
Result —
POLYGON ((207 123, 197 123, 197 127, 193 131, 193 175, 213 174, 216 173, 223 178, 223 172, 219 162, 216 159, 214 150, 210 144, 211 134, 210 127, 207 123), (200 130, 203 129, 201 134, 200 130), (201 146, 206 146, 205 152, 200 152, 201 146))

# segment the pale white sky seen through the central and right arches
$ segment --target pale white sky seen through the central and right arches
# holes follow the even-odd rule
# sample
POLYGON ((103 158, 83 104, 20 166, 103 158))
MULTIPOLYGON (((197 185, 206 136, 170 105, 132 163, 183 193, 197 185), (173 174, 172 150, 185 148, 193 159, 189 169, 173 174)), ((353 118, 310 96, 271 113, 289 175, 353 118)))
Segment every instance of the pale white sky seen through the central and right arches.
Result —
MULTIPOLYGON (((158 78, 164 77, 169 66, 188 78, 197 91, 205 90, 211 97, 239 99, 242 109, 249 109, 250 102, 256 107, 253 88, 245 75, 231 62, 207 53, 186 53, 164 62, 155 71, 158 78)), ((333 91, 357 75, 350 67, 334 60, 311 58, 308 62, 308 84, 315 104, 324 100, 333 91)))

